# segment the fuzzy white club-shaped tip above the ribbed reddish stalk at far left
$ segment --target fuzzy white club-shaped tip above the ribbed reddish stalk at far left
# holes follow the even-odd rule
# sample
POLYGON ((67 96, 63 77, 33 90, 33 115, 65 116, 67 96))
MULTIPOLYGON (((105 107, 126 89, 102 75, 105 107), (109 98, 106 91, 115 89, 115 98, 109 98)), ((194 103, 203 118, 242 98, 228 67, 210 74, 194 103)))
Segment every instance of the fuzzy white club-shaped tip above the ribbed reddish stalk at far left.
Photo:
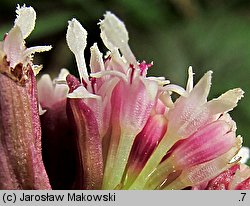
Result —
POLYGON ((36 12, 32 7, 26 7, 24 4, 22 7, 17 5, 16 14, 15 26, 20 28, 23 39, 25 39, 35 27, 36 12))

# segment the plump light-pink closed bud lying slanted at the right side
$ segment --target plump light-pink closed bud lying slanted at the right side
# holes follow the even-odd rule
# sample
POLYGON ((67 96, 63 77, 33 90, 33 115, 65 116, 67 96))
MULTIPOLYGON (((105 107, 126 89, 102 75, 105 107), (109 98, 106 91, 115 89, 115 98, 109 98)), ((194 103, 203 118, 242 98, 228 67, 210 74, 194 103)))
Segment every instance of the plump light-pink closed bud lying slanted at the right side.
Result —
POLYGON ((216 121, 183 140, 172 153, 176 167, 191 167, 227 152, 235 143, 235 133, 230 129, 228 123, 216 121))

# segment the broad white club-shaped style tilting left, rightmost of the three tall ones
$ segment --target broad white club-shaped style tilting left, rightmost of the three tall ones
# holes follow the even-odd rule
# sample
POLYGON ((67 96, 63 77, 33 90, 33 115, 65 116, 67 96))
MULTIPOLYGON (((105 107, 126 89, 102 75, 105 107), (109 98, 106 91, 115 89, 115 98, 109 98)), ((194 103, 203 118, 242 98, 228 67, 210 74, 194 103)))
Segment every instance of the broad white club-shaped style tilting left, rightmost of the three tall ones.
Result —
POLYGON ((126 60, 138 67, 134 54, 128 45, 128 31, 124 23, 114 14, 107 12, 100 23, 101 38, 109 50, 119 48, 126 60))

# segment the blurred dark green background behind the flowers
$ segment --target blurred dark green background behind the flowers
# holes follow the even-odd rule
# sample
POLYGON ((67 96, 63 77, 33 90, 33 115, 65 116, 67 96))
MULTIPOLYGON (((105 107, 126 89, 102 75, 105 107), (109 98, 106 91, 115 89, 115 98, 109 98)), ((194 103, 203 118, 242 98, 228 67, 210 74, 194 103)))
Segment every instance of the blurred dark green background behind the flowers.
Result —
POLYGON ((150 75, 165 76, 184 86, 187 68, 192 65, 196 81, 207 70, 214 71, 209 98, 241 87, 245 98, 231 114, 244 145, 250 146, 250 1, 1 0, 2 36, 13 24, 17 3, 37 11, 36 29, 27 45, 53 45, 51 52, 36 58, 43 63, 43 72, 56 75, 66 67, 75 73, 75 60, 65 41, 67 21, 73 17, 88 31, 88 48, 98 42, 105 51, 97 23, 105 11, 112 11, 125 22, 136 57, 154 61, 150 75))

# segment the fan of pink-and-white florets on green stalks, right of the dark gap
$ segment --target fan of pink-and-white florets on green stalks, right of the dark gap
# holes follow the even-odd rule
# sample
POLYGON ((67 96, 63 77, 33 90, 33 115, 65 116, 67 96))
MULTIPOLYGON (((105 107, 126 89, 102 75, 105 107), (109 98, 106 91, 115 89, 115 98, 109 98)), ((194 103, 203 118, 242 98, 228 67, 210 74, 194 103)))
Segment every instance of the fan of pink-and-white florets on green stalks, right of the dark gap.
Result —
POLYGON ((80 81, 67 76, 76 188, 205 188, 241 147, 228 112, 243 91, 207 101, 212 72, 193 86, 191 67, 186 88, 147 77, 152 64, 136 60, 124 23, 107 12, 99 25, 109 51, 103 59, 97 44, 91 47, 90 74, 84 59, 87 31, 72 19, 66 35, 80 76, 80 81), (176 101, 173 92, 180 95, 176 101))

